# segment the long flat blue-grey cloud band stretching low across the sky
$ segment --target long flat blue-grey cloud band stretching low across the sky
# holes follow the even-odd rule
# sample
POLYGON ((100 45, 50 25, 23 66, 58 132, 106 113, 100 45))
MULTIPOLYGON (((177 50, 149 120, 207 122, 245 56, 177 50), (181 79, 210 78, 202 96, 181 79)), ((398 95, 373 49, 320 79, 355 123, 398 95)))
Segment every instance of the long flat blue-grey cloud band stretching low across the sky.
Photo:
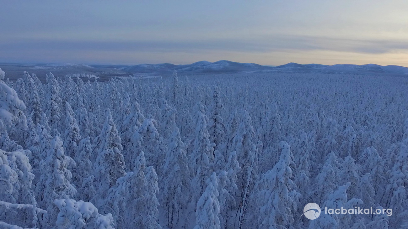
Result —
POLYGON ((390 53, 408 50, 407 41, 399 40, 352 40, 313 36, 264 36, 259 38, 207 38, 196 40, 59 40, 21 39, 0 42, 0 50, 18 51, 115 51, 115 52, 180 52, 235 51, 248 53, 294 52, 294 51, 344 51, 355 53, 390 53))

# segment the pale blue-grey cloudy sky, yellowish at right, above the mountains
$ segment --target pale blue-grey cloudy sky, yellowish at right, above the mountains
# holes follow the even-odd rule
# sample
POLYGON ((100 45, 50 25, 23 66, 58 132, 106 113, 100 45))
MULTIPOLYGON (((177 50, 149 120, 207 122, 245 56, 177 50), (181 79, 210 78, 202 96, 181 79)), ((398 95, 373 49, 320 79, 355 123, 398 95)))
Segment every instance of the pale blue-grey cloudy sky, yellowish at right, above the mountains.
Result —
POLYGON ((0 0, 0 62, 408 66, 407 0, 0 0))

